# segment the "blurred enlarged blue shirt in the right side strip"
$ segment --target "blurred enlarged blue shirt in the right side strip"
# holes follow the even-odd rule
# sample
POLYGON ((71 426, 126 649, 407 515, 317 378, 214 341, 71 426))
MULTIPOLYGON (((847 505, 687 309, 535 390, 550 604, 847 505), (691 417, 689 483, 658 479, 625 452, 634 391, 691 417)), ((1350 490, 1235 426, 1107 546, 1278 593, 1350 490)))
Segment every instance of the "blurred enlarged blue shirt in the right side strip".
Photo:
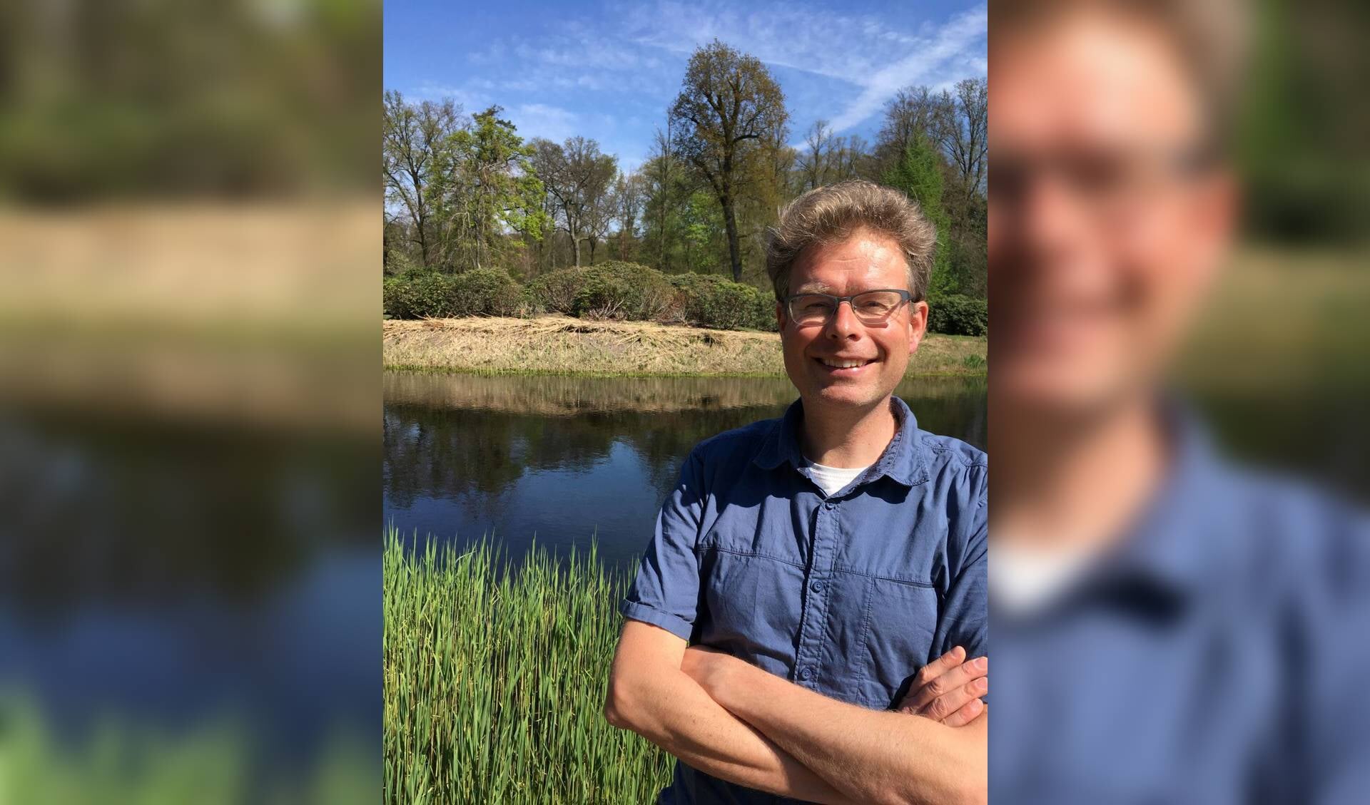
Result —
POLYGON ((1045 609, 992 604, 993 802, 1370 802, 1363 515, 1223 461, 1171 471, 1045 609))

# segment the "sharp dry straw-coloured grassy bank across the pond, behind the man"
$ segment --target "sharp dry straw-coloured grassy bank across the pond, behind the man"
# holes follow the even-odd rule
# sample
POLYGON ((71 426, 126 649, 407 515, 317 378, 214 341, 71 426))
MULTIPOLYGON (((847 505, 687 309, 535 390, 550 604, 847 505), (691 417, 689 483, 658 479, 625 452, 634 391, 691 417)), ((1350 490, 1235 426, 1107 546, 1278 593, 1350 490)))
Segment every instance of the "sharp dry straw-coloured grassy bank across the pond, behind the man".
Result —
MULTIPOLYGON (((600 376, 784 376, 774 333, 562 315, 384 322, 386 368, 600 376)), ((982 375, 988 340, 923 340, 910 375, 982 375)))

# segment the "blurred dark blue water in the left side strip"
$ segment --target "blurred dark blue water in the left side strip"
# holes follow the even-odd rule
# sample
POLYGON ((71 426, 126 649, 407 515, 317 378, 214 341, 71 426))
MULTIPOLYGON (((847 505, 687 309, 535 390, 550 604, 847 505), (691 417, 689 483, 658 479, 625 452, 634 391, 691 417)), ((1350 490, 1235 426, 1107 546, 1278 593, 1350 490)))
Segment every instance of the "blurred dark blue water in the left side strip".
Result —
POLYGON ((374 734, 374 439, 0 411, 0 693, 73 738, 227 715, 282 769, 333 728, 374 734))

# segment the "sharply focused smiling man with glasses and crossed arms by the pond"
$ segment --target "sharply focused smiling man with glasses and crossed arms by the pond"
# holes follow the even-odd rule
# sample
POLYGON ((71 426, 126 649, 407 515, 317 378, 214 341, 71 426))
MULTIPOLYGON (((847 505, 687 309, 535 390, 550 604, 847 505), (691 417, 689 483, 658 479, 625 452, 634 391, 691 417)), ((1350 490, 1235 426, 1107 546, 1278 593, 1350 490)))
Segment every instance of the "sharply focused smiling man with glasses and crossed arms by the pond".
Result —
POLYGON ((893 397, 933 244, 870 182, 771 233, 799 400, 695 448, 621 605, 606 716, 678 758, 662 802, 985 800, 985 456, 893 397))

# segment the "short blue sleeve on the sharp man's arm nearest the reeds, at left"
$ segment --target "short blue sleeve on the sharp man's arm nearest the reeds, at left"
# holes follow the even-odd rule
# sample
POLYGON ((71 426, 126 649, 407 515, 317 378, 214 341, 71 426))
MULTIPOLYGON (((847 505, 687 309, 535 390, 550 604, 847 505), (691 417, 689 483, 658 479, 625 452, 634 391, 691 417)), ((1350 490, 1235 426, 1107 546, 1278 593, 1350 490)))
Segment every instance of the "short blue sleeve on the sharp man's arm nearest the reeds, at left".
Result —
POLYGON ((695 546, 703 520, 703 465, 699 450, 681 467, 675 489, 656 515, 656 530, 643 554, 637 578, 618 611, 688 641, 699 608, 699 560, 695 546))

